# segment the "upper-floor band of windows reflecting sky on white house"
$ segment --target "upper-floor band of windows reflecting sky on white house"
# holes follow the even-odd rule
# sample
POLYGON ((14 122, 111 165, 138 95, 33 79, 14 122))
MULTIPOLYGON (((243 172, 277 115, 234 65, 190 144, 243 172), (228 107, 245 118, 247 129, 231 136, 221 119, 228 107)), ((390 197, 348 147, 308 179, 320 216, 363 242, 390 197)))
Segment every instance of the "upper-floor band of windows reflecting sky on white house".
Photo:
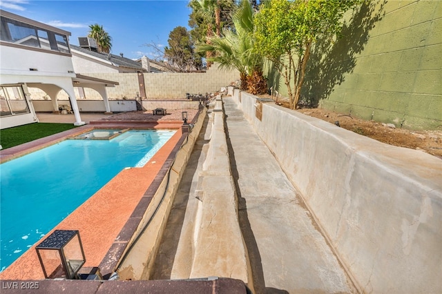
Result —
POLYGON ((28 23, 1 17, 0 40, 24 46, 70 53, 68 37, 28 23))

